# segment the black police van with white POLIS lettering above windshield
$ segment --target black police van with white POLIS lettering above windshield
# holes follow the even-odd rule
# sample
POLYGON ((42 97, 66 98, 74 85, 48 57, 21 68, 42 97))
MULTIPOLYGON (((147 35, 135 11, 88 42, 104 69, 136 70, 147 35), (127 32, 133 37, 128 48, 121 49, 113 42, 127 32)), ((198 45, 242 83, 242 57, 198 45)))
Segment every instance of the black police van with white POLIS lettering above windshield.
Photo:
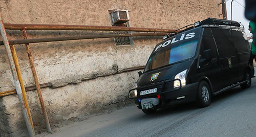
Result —
POLYGON ((163 38, 129 91, 144 113, 193 101, 206 107, 212 95, 250 87, 254 67, 248 66, 250 47, 240 22, 207 18, 163 38))

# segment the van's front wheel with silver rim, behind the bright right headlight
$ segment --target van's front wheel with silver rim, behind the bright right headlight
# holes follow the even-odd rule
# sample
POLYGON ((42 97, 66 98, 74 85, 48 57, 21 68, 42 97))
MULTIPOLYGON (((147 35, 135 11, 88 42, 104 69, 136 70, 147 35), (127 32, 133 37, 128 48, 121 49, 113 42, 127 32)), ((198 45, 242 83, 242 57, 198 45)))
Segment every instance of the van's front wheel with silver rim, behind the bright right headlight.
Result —
POLYGON ((197 90, 197 104, 199 107, 207 107, 211 102, 211 89, 207 82, 201 81, 197 90))

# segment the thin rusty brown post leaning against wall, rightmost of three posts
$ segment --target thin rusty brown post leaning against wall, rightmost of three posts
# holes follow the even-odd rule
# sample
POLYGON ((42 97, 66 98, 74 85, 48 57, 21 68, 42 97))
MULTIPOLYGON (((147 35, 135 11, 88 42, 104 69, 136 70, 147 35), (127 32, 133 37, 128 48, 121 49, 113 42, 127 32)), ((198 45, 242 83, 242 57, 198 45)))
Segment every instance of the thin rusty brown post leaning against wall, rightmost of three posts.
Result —
MULTIPOLYGON (((28 39, 26 30, 23 30, 22 32, 23 32, 23 35, 24 35, 24 39, 28 39)), ((48 132, 52 132, 51 131, 51 127, 50 127, 50 123, 49 123, 49 120, 48 120, 48 116, 47 116, 47 111, 46 111, 46 107, 45 107, 45 104, 44 104, 44 100, 42 99, 41 88, 40 88, 40 85, 39 85, 39 82, 38 82, 38 78, 37 78, 37 74, 36 74, 36 70, 35 70, 35 66, 34 66, 34 61, 33 61, 32 53, 31 53, 31 50, 30 50, 30 45, 26 44, 26 47, 27 47, 27 53, 28 53, 28 57, 29 57, 29 62, 30 62, 31 70, 32 70, 32 73, 33 73, 33 78, 34 78, 37 94, 38 94, 38 97, 39 97, 39 100, 40 100, 42 112, 44 113, 44 116, 45 116, 45 122, 46 122, 46 126, 47 126, 47 131, 48 132)))

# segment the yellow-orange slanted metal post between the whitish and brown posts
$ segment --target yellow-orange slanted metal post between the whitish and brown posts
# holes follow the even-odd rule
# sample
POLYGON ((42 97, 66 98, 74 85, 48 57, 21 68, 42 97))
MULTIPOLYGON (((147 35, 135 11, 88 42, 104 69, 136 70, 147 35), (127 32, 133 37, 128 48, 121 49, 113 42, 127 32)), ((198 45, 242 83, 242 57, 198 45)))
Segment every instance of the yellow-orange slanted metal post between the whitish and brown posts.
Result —
POLYGON ((25 90, 25 86, 23 84, 22 73, 20 72, 20 69, 19 69, 16 50, 15 50, 14 45, 10 45, 10 48, 11 48, 14 64, 15 64, 15 67, 16 67, 16 72, 17 72, 17 75, 18 75, 18 80, 19 80, 19 83, 20 83, 20 87, 22 87, 22 95, 23 95, 24 102, 25 102, 25 105, 26 105, 26 108, 27 108, 27 111, 28 111, 29 120, 30 120, 31 126, 33 128, 33 132, 35 132, 32 117, 31 117, 31 113, 30 113, 30 109, 29 109, 29 105, 28 105, 28 100, 27 100, 27 96, 26 96, 26 90, 25 90))

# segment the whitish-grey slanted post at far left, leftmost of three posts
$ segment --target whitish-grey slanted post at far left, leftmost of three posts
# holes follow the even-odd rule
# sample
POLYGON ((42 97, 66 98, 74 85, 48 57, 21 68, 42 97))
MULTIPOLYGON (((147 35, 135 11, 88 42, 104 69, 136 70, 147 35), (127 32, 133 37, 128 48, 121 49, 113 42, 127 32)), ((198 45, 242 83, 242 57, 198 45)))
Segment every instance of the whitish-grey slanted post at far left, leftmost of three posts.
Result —
POLYGON ((9 59, 9 62, 10 62, 12 77, 14 79, 15 88, 16 88, 16 91, 17 91, 17 95, 18 95, 20 105, 22 107, 22 112, 23 112, 23 116, 24 116, 24 119, 25 119, 25 122, 26 122, 28 133, 29 133, 29 136, 35 136, 35 134, 33 132, 32 125, 29 121, 28 111, 26 109, 24 98, 22 96, 22 89, 21 89, 20 83, 18 81, 18 77, 17 77, 17 73, 16 73, 16 69, 15 69, 15 64, 14 64, 14 61, 13 61, 13 58, 12 58, 12 53, 11 53, 10 45, 9 45, 9 42, 8 42, 8 39, 7 39, 7 36, 6 36, 4 21, 3 21, 1 13, 0 13, 0 31, 1 31, 3 41, 4 41, 5 49, 6 49, 6 52, 7 52, 7 55, 8 55, 8 59, 9 59))

